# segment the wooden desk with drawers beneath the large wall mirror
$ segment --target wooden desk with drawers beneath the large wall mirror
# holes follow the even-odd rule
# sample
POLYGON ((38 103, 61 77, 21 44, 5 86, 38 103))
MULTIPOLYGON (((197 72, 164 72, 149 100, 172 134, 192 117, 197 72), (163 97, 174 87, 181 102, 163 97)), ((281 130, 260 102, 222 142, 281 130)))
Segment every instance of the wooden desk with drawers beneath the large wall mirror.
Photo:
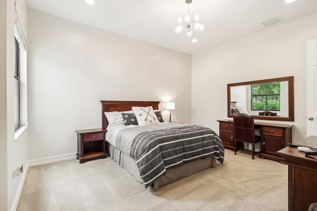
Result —
MULTIPOLYGON (((233 120, 217 121, 219 122, 219 136, 223 146, 234 150, 233 120)), ((261 130, 261 153, 259 157, 284 162, 284 159, 276 152, 292 143, 292 127, 294 125, 255 121, 254 126, 261 130)))

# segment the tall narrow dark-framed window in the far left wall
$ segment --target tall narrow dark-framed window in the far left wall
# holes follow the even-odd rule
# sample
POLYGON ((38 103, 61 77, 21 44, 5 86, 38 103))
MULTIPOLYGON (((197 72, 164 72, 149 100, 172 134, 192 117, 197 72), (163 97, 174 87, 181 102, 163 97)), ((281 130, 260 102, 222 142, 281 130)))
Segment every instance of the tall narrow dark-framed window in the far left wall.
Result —
POLYGON ((20 45, 15 40, 15 74, 14 74, 14 128, 20 127, 20 45))

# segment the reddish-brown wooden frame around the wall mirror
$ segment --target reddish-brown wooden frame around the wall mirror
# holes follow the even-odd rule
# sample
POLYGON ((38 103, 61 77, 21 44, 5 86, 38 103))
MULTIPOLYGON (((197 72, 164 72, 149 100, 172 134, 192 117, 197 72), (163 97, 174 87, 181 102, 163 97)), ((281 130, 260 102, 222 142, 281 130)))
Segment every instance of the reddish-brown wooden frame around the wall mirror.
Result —
POLYGON ((262 84, 262 83, 270 83, 270 82, 288 82, 288 117, 274 117, 274 116, 258 116, 254 115, 254 119, 257 120, 275 120, 275 121, 294 121, 294 77, 283 77, 283 78, 275 78, 275 79, 265 79, 259 81, 251 81, 251 82, 242 82, 235 84, 227 84, 227 111, 228 117, 233 117, 231 114, 231 95, 230 90, 232 86, 240 86, 240 85, 251 85, 251 84, 262 84))

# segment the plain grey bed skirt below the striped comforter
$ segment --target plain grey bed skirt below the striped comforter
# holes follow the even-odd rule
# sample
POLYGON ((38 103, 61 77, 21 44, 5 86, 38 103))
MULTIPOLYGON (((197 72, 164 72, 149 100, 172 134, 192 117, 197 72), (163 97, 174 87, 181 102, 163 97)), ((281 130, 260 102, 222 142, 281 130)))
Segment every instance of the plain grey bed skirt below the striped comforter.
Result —
MULTIPOLYGON (((138 166, 136 164, 136 160, 133 158, 130 158, 111 144, 107 143, 107 151, 109 153, 109 156, 115 160, 119 166, 123 169, 126 169, 131 175, 133 175, 139 182, 143 183, 138 166)), ((215 158, 209 157, 206 159, 197 160, 191 163, 184 164, 181 167, 175 168, 175 169, 168 169, 166 170, 166 173, 164 176, 159 177, 154 182, 154 189, 159 189, 159 186, 171 183, 177 179, 181 179, 190 175, 193 175, 194 173, 197 173, 199 171, 202 171, 204 169, 208 169, 210 167, 215 167, 215 158)))

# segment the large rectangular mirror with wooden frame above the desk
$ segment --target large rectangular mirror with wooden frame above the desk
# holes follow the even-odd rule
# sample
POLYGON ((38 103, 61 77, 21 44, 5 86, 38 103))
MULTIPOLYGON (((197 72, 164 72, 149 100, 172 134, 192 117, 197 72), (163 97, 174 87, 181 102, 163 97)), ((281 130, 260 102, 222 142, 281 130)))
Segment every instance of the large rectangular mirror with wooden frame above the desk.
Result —
POLYGON ((294 121, 294 77, 227 84, 228 117, 241 112, 254 119, 294 121))

